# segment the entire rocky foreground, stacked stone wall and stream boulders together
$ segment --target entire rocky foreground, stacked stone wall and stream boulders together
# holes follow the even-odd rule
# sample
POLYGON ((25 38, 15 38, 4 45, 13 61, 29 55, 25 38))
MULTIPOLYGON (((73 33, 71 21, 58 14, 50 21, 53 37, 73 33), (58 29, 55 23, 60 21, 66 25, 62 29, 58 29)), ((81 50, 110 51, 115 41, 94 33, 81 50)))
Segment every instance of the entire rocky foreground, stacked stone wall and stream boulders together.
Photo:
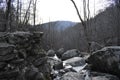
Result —
POLYGON ((41 49, 42 32, 0 35, 0 80, 120 80, 120 47, 41 49))

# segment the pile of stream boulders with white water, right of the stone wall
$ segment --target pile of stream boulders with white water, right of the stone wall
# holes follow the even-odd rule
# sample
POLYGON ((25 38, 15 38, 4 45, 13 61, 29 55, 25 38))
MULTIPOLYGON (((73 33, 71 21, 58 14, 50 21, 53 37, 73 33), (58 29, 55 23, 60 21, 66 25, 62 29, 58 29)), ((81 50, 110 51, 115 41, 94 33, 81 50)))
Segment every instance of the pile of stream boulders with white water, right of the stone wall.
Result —
POLYGON ((60 59, 50 57, 53 80, 120 80, 119 52, 119 47, 103 48, 92 55, 72 49, 61 53, 60 59))

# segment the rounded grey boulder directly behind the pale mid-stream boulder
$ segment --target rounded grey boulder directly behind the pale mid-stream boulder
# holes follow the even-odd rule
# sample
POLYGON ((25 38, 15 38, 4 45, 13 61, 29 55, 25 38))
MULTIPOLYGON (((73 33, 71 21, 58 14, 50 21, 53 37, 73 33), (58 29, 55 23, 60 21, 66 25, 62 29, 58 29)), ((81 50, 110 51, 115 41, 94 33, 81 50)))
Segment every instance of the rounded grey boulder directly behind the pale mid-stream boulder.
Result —
POLYGON ((77 49, 72 49, 72 50, 68 50, 66 51, 63 55, 62 55, 62 60, 66 60, 66 59, 70 59, 72 57, 78 57, 80 56, 80 51, 77 49))

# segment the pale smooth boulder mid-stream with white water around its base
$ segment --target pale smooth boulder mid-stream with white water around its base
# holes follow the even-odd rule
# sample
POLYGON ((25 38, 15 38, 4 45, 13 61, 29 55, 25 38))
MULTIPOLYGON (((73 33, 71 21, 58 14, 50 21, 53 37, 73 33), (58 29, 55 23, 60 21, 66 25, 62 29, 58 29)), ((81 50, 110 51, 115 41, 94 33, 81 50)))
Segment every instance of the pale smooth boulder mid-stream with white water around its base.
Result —
POLYGON ((70 59, 67 59, 65 61, 63 61, 65 64, 69 64, 73 67, 76 67, 76 66, 83 66, 85 65, 85 60, 81 57, 73 57, 73 58, 70 58, 70 59))

